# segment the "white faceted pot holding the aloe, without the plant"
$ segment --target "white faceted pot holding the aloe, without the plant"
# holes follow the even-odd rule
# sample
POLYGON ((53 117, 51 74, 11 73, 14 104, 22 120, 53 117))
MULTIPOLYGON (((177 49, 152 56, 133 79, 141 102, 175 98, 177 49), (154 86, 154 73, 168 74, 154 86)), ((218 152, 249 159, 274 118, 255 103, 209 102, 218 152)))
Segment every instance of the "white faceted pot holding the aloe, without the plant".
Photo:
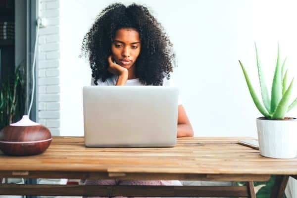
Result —
POLYGON ((297 157, 297 119, 257 118, 257 131, 261 155, 281 159, 297 157))

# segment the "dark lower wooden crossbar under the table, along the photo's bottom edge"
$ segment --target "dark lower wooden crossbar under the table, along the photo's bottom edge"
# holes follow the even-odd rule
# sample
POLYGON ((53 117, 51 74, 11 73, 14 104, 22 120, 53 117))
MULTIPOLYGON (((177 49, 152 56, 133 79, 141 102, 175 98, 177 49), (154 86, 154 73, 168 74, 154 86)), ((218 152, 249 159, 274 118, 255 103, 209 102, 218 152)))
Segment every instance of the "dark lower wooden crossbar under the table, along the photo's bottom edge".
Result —
POLYGON ((1 184, 0 195, 104 197, 245 197, 245 186, 98 186, 1 184))

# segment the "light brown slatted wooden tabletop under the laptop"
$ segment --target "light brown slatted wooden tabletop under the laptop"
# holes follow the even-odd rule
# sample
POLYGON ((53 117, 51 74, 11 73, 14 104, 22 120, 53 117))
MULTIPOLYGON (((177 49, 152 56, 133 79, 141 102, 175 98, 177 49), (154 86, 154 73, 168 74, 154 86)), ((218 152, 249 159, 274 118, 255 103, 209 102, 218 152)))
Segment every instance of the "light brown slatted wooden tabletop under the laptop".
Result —
POLYGON ((86 148, 83 137, 53 137, 39 155, 0 153, 0 172, 297 175, 297 158, 262 157, 258 150, 237 144, 239 139, 248 138, 178 138, 173 148, 86 148))

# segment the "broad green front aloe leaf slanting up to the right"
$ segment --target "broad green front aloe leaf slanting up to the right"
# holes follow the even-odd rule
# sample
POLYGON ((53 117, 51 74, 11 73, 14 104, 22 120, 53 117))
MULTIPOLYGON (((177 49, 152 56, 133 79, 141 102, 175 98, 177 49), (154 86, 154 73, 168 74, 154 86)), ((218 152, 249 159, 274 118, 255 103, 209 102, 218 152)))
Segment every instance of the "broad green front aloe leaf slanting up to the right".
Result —
POLYGON ((285 95, 283 96, 283 98, 281 99, 279 104, 277 105, 277 107, 272 115, 272 119, 283 119, 285 117, 285 114, 286 114, 286 112, 288 110, 288 106, 289 106, 289 99, 290 99, 290 96, 291 96, 292 90, 293 90, 293 82, 294 82, 294 78, 291 81, 290 86, 287 89, 285 95))

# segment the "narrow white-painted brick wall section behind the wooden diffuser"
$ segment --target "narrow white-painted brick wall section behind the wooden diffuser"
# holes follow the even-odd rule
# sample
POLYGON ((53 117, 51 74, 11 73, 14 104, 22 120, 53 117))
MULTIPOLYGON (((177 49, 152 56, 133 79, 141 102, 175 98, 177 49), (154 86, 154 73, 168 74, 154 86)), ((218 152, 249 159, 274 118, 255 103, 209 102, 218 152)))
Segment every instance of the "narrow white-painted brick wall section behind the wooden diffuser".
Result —
POLYGON ((38 122, 56 136, 60 134, 59 0, 39 3, 39 15, 47 19, 48 26, 39 30, 38 122))

